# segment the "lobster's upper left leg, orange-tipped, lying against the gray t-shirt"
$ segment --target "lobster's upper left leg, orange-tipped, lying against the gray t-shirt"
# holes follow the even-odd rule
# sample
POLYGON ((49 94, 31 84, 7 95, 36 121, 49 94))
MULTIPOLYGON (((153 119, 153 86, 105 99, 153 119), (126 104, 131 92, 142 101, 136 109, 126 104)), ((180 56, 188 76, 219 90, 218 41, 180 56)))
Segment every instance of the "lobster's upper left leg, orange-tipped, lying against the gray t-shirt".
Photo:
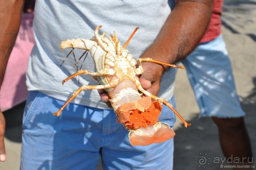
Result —
POLYGON ((75 74, 73 75, 70 75, 68 78, 64 79, 62 81, 62 84, 64 84, 65 82, 67 82, 68 80, 72 79, 73 77, 77 76, 77 75, 81 75, 81 74, 84 74, 84 75, 93 75, 93 76, 102 76, 102 75, 114 75, 115 74, 115 71, 113 69, 109 69, 109 68, 105 68, 105 69, 102 69, 98 72, 90 72, 88 70, 78 70, 78 72, 76 72, 75 74))

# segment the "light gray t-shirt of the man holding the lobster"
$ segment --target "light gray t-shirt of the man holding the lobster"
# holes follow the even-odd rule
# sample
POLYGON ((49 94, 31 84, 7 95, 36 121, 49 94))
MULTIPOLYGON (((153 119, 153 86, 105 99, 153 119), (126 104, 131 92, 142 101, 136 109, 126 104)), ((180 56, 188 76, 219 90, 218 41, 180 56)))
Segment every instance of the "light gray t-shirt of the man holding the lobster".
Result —
MULTIPOLYGON (((66 101, 82 85, 98 84, 90 75, 81 75, 73 82, 62 85, 62 80, 75 73, 71 55, 60 67, 69 49, 61 50, 60 42, 71 38, 89 39, 102 25, 99 33, 106 36, 116 32, 123 45, 136 27, 140 29, 129 42, 127 49, 137 59, 154 41, 171 10, 167 0, 105 0, 88 1, 36 1, 34 17, 34 46, 27 70, 28 90, 38 90, 56 99, 66 101)), ((170 44, 171 45, 171 44, 170 44)), ((83 51, 75 50, 76 58, 83 51)), ((148 56, 154 57, 154 56, 148 56)), ((87 56, 82 69, 94 71, 94 63, 87 56)), ((164 74, 158 96, 170 100, 173 95, 175 70, 164 74)), ((74 79, 72 79, 74 80, 74 79)), ((97 90, 83 90, 72 101, 90 107, 109 109, 101 101, 97 90)))

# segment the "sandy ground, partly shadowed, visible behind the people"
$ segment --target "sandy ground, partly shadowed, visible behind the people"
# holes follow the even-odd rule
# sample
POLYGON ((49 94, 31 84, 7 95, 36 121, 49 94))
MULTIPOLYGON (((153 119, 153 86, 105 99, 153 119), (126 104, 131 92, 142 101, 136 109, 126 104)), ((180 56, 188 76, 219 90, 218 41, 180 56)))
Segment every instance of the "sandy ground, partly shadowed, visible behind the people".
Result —
MULTIPOLYGON (((255 156, 256 0, 225 0, 221 20, 223 38, 232 62, 241 106, 246 112, 245 122, 255 156)), ((174 127, 176 133, 174 170, 222 169, 219 164, 213 163, 214 157, 224 158, 219 144, 218 128, 211 118, 197 118, 199 108, 184 70, 179 70, 177 73, 175 97, 177 110, 192 123, 192 126, 184 128, 182 122, 177 119, 174 127), (200 165, 198 162, 200 156, 206 157, 207 163, 210 164, 200 165)), ((1 170, 19 169, 23 108, 24 103, 4 113, 7 161, 0 163, 1 170)), ((99 166, 97 169, 102 168, 99 166)))

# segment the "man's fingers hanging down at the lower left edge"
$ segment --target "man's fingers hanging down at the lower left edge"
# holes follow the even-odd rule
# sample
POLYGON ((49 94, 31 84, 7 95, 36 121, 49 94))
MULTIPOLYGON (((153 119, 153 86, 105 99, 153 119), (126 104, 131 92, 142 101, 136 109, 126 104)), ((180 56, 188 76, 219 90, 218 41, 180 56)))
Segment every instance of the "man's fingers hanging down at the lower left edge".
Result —
POLYGON ((5 132, 5 120, 3 113, 0 111, 0 161, 6 160, 6 153, 4 147, 4 132, 5 132))

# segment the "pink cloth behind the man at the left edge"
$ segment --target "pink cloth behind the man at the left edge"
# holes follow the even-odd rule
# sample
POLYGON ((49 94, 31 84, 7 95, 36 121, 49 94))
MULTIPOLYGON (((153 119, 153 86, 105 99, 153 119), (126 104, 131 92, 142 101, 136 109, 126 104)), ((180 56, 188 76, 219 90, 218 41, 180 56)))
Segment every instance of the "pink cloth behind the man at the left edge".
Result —
POLYGON ((30 52, 35 44, 32 22, 34 15, 23 13, 19 33, 11 52, 1 87, 1 110, 8 110, 26 100, 28 95, 26 70, 30 52))

